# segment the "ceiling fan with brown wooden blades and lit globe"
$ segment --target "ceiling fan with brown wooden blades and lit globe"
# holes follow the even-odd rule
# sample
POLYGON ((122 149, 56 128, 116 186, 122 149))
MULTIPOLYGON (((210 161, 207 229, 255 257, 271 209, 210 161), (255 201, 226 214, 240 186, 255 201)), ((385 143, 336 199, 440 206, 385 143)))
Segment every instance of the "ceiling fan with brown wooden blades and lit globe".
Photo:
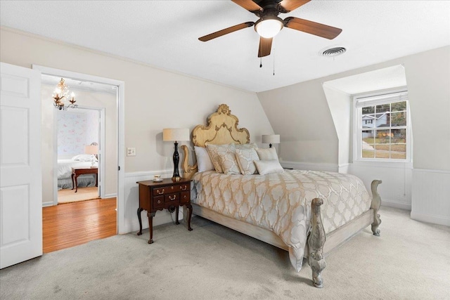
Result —
POLYGON ((342 30, 340 28, 331 27, 321 23, 312 22, 295 17, 288 17, 284 20, 279 18, 280 13, 289 13, 290 11, 307 4, 311 0, 231 0, 238 6, 245 8, 254 13, 259 18, 256 22, 243 22, 242 24, 234 25, 212 34, 207 34, 200 37, 200 41, 209 41, 216 37, 229 34, 238 30, 255 25, 255 31, 259 34, 259 48, 258 57, 269 56, 272 39, 280 32, 283 27, 288 27, 293 30, 307 32, 318 37, 326 39, 334 39, 338 37, 342 30))

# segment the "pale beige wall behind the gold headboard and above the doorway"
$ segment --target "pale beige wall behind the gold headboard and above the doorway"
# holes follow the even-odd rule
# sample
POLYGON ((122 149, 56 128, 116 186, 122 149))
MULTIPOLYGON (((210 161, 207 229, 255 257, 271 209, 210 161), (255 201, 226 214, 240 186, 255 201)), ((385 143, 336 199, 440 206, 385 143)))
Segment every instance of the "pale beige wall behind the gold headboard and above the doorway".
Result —
MULTIPOLYGON (((207 116, 217 110, 221 103, 229 105, 233 115, 240 120, 239 126, 250 131, 251 141, 261 143, 262 134, 274 132, 255 93, 167 72, 33 34, 5 28, 1 28, 0 33, 0 59, 4 63, 22 67, 36 64, 124 81, 125 147, 136 148, 135 157, 125 158, 124 169, 127 174, 167 171, 170 176, 173 172, 174 145, 162 142, 162 129, 192 130, 197 124, 205 124, 207 116)), ((54 109, 52 105, 48 107, 54 109)), ((48 121, 44 126, 51 127, 48 121)), ((49 147, 48 143, 43 141, 43 147, 49 147)), ((51 174, 47 171, 43 176, 51 174)), ((137 185, 132 183, 125 188, 125 195, 134 196, 122 200, 127 202, 120 214, 126 222, 130 222, 134 218, 137 220, 139 202, 136 193, 130 191, 137 189, 137 185)), ((155 222, 158 222, 158 215, 155 222)), ((127 228, 132 226, 131 223, 125 224, 127 228)))

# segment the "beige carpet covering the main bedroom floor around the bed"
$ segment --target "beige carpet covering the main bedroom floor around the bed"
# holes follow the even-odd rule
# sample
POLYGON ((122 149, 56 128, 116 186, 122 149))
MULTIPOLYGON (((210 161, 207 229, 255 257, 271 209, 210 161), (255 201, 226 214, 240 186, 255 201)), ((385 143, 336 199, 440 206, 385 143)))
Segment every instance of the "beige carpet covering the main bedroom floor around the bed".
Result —
POLYGON ((153 244, 143 230, 4 268, 0 299, 449 299, 450 228, 380 215, 380 237, 369 226, 326 256, 323 289, 306 262, 295 273, 288 252, 194 216, 153 244))

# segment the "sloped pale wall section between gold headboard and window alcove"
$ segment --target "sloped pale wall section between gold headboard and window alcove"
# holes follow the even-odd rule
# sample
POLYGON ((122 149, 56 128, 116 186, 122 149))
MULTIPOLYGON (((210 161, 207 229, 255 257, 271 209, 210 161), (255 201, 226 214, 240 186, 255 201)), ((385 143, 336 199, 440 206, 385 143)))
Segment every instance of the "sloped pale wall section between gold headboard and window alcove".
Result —
POLYGON ((289 162, 338 162, 338 136, 320 81, 257 93, 289 162))

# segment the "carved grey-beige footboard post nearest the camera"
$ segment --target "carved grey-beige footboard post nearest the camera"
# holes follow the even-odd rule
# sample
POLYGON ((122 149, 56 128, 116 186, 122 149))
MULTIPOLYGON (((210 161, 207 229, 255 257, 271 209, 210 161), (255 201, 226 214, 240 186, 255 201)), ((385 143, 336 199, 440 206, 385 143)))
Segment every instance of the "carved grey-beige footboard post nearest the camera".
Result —
POLYGON ((311 232, 308 237, 309 257, 308 263, 312 270, 312 282, 314 287, 323 287, 322 270, 326 267, 323 256, 323 244, 325 244, 325 230, 321 217, 321 205, 323 200, 314 198, 311 202, 312 219, 311 232))

